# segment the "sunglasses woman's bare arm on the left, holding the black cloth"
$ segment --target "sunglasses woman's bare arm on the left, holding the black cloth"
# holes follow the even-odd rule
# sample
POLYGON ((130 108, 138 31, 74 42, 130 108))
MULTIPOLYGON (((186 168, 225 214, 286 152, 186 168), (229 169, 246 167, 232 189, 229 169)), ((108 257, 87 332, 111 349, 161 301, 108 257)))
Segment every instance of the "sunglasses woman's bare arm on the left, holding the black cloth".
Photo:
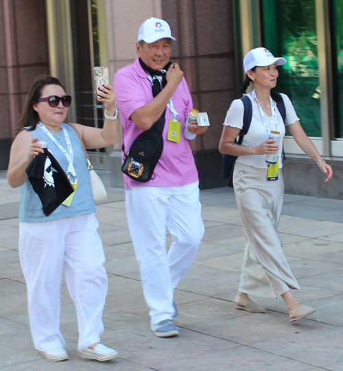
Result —
POLYGON ((44 152, 43 145, 37 144, 38 136, 32 139, 27 130, 20 132, 12 143, 7 179, 12 188, 20 187, 27 179, 26 168, 34 156, 44 152))

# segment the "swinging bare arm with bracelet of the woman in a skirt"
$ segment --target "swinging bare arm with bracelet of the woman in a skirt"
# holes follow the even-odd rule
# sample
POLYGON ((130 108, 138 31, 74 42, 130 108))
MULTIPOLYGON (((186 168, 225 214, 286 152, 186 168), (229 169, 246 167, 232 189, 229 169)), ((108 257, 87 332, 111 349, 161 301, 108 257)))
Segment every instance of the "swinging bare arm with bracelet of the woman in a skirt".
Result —
MULTIPOLYGON (((302 126, 300 125, 299 121, 296 121, 295 123, 291 123, 287 126, 289 131, 291 132, 294 140, 296 141, 296 144, 303 149, 305 154, 312 158, 315 163, 318 162, 318 160, 322 160, 322 156, 320 156, 319 152, 317 151, 316 147, 314 146, 314 143, 312 143, 311 139, 306 135, 304 132, 302 126)), ((320 161, 318 164, 320 170, 327 174, 327 179, 325 179, 325 182, 329 182, 329 180, 333 176, 333 171, 330 165, 327 165, 327 163, 324 163, 324 161, 320 161)))

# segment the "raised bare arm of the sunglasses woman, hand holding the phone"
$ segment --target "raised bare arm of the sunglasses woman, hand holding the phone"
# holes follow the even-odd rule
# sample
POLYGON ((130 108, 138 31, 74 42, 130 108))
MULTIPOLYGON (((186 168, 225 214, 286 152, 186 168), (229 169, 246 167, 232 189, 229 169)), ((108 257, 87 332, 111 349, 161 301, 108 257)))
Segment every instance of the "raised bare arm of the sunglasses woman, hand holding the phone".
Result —
MULTIPOLYGON (((106 115, 115 115, 115 91, 110 85, 105 85, 99 88, 97 92, 102 98, 98 98, 98 101, 105 103, 106 115)), ((74 124, 82 136, 82 141, 86 148, 103 148, 112 145, 118 140, 118 120, 104 120, 104 128, 91 128, 89 126, 74 124)))

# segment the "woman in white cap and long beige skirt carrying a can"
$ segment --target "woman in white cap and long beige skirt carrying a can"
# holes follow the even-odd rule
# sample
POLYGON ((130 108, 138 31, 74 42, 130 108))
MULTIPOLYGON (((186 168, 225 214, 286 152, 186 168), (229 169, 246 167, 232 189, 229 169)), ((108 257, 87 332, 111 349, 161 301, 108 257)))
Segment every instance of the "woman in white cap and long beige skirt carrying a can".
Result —
MULTIPOLYGON (((241 222, 248 241, 241 272, 241 280, 235 304, 237 309, 262 313, 265 310, 249 298, 249 294, 276 298, 281 296, 289 309, 290 321, 294 322, 314 312, 314 309, 301 305, 292 294, 299 289, 298 283, 289 269, 283 254, 281 239, 276 232, 283 206, 282 139, 285 126, 296 143, 314 160, 320 170, 327 175, 325 182, 333 176, 316 147, 305 134, 296 112, 287 95, 282 94, 285 104, 285 122, 271 97, 271 89, 276 86, 279 75, 277 66, 285 64, 285 58, 274 58, 263 47, 252 49, 244 58, 246 80, 243 93, 250 82, 254 91, 247 94, 252 103, 252 120, 248 133, 241 145, 234 143, 243 127, 244 104, 236 99, 230 106, 224 122, 220 152, 239 156, 235 164, 233 184, 241 222), (269 139, 270 132, 281 134, 280 145, 269 139), (279 177, 268 180, 266 155, 279 152, 276 171, 279 177)), ((272 168, 270 168, 272 170, 272 168)), ((271 172, 271 171, 270 171, 271 172)))

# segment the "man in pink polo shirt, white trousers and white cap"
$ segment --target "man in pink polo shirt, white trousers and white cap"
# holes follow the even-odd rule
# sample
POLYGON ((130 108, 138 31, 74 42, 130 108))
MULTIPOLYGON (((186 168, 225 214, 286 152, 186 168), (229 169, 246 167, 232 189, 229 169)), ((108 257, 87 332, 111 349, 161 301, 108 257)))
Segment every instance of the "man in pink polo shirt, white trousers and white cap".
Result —
POLYGON ((124 175, 128 226, 151 328, 158 337, 178 335, 172 322, 178 318, 174 289, 187 275, 204 235, 198 171, 187 138, 206 127, 196 121, 186 127, 193 103, 180 67, 169 65, 171 40, 175 38, 167 22, 147 19, 139 28, 138 58, 117 71, 114 83, 126 153, 165 111, 163 153, 154 176, 143 183, 124 175), (153 95, 156 86, 159 93, 153 95), (168 253, 166 226, 173 239, 168 253))

